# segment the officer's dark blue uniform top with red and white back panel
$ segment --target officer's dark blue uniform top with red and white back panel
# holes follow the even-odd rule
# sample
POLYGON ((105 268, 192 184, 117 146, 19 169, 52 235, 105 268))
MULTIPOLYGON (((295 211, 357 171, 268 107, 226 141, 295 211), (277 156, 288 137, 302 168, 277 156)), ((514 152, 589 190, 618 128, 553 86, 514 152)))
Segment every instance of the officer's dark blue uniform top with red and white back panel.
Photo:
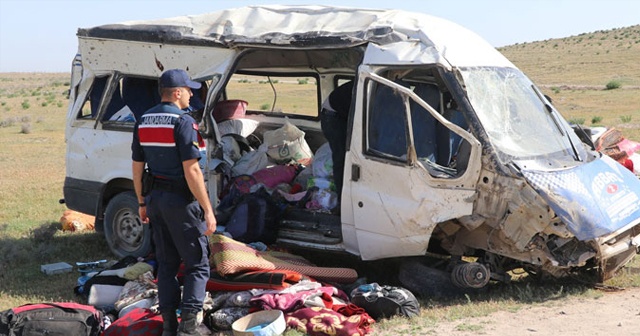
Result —
POLYGON ((131 158, 147 163, 151 174, 184 177, 182 162, 200 158, 198 124, 173 103, 160 103, 136 123, 131 158))

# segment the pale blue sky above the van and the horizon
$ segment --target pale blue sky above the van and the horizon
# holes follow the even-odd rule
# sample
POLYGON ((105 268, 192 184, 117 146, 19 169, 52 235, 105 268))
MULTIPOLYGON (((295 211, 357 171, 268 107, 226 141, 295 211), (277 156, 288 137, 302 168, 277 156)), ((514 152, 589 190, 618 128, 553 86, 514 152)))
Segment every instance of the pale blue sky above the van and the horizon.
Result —
POLYGON ((395 8, 465 26, 496 47, 640 24, 638 0, 0 0, 0 72, 68 72, 76 31, 258 4, 395 8))

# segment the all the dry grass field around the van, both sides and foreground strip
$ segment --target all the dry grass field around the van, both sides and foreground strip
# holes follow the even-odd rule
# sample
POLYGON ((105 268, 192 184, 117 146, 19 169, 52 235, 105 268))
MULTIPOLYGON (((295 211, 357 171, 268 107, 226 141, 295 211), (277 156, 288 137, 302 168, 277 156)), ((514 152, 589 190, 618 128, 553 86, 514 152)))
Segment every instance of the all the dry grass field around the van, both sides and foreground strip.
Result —
MULTIPOLYGON (((569 120, 615 126, 640 141, 640 26, 500 49, 550 95, 569 120), (620 86, 605 89, 611 81, 620 86), (595 121, 595 122, 594 122, 595 121)), ((28 302, 73 301, 77 272, 47 276, 40 265, 110 258, 94 232, 63 232, 64 122, 69 74, 0 74, 0 310, 28 302)), ((640 286, 636 257, 608 284, 640 286)), ((600 295, 572 283, 515 281, 477 295, 425 301, 410 324, 390 319, 380 335, 423 335, 438 321, 518 310, 567 295, 600 295)))

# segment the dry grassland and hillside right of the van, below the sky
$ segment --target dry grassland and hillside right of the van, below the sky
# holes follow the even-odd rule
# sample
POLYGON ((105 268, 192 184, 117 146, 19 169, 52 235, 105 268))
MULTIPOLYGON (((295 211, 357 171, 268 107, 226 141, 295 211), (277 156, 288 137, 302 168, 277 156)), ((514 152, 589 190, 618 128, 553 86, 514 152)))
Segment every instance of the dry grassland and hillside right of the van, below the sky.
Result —
POLYGON ((640 141, 640 25, 529 42, 499 49, 524 71, 568 119, 623 129, 640 141), (610 81, 619 89, 605 90, 610 81), (622 116, 631 116, 624 122, 622 116))

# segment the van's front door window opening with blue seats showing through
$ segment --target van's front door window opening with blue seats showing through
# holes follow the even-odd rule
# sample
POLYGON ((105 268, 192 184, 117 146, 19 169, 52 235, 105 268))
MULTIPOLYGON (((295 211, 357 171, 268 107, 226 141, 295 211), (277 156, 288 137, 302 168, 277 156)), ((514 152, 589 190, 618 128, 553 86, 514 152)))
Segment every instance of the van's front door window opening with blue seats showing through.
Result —
POLYGON ((392 78, 394 84, 412 91, 415 96, 401 92, 395 85, 369 82, 368 152, 408 162, 413 150, 418 162, 433 177, 452 178, 464 173, 466 166, 456 164, 461 137, 419 102, 422 100, 437 112, 444 111, 445 119, 464 129, 466 121, 460 111, 451 109, 454 106, 451 96, 443 95, 436 84, 418 81, 415 77, 392 78), (443 100, 445 97, 447 101, 443 100))

